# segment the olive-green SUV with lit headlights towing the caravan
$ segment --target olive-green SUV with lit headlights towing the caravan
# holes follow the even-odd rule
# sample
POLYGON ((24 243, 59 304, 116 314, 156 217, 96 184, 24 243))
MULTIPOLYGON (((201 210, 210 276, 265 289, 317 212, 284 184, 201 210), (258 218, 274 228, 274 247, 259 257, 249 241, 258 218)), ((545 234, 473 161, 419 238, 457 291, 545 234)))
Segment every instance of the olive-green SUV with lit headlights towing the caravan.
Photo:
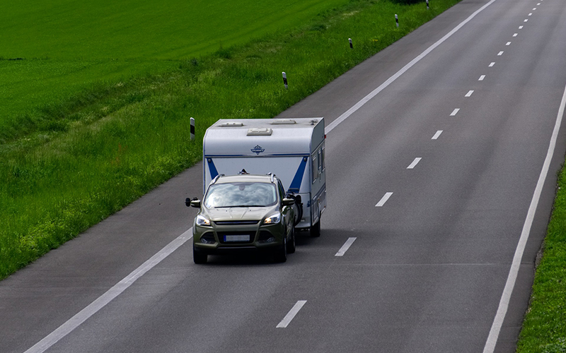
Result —
POLYGON ((206 263, 209 254, 242 249, 272 251, 276 261, 284 262, 295 251, 294 200, 286 198, 273 174, 221 174, 204 201, 185 203, 200 208, 192 226, 195 263, 206 263))

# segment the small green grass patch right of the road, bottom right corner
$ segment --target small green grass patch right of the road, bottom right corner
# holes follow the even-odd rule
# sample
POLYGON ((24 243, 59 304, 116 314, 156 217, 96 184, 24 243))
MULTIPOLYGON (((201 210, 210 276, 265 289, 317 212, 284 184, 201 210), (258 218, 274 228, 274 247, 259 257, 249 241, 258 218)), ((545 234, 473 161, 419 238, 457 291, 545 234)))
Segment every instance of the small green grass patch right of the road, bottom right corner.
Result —
POLYGON ((519 353, 566 352, 566 169, 558 181, 553 215, 536 268, 519 353))

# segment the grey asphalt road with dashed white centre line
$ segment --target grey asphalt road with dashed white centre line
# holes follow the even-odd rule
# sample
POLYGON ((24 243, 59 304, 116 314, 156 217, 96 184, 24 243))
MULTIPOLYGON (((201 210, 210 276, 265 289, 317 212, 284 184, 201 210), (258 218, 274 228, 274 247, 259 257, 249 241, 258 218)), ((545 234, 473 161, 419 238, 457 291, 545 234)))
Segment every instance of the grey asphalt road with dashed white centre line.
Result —
POLYGON ((566 150, 562 128, 538 183, 566 6, 492 1, 420 56, 485 4, 463 0, 280 115, 325 116, 328 130, 322 235, 301 234, 287 263, 192 263, 179 236, 199 164, 0 282, 0 352, 514 352, 566 150))

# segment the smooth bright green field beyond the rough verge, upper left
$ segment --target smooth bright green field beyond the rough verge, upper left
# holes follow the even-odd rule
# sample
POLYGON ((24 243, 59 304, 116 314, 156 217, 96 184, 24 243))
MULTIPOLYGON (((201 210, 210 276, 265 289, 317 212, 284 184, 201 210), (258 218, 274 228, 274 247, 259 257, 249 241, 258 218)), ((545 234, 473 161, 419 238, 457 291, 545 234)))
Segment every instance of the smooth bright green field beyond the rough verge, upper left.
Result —
POLYGON ((41 108, 100 82, 171 71, 183 59, 293 28, 347 0, 3 0, 0 142, 41 108))

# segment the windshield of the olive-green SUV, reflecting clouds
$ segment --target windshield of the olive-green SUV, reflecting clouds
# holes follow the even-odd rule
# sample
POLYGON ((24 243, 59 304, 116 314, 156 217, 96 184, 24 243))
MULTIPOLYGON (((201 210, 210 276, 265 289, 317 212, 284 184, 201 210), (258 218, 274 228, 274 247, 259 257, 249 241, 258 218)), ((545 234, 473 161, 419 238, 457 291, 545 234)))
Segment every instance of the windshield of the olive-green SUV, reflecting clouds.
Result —
POLYGON ((274 184, 226 183, 214 184, 208 189, 204 205, 207 208, 271 206, 277 203, 274 184))

